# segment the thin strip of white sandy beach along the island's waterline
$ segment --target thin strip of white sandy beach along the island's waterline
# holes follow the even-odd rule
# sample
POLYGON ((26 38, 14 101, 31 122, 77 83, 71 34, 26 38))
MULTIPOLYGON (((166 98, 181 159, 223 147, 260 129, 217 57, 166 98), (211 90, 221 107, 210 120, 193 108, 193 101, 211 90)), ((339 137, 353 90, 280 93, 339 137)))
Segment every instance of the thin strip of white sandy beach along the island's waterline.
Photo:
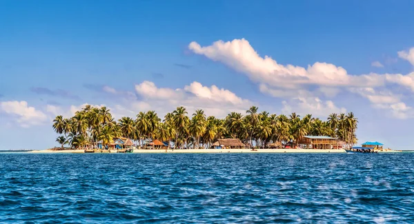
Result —
MULTIPOLYGON (((116 150, 111 150, 116 153, 116 150)), ((83 150, 34 150, 28 153, 84 153, 83 150)), ((100 152, 97 152, 100 153, 100 152)), ((346 153, 345 150, 304 150, 304 149, 189 149, 189 150, 134 150, 133 153, 346 153)))

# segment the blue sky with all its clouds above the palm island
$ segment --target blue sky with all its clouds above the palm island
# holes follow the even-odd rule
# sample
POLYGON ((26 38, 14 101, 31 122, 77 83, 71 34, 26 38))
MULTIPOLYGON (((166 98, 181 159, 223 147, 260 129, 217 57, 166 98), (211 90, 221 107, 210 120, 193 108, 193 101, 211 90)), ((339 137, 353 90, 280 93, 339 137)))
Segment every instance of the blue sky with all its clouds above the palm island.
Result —
POLYGON ((51 120, 84 103, 117 118, 163 116, 177 105, 219 117, 250 105, 321 118, 352 111, 359 143, 413 149, 412 8, 404 0, 1 1, 0 149, 56 145, 51 120))

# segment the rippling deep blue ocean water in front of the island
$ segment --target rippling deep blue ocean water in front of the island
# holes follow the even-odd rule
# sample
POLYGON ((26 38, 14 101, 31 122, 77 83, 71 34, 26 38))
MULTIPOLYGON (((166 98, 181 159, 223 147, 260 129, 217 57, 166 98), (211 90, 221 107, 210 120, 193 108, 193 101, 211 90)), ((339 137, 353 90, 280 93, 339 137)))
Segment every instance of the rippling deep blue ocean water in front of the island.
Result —
POLYGON ((0 223, 414 223, 414 154, 0 154, 0 223))

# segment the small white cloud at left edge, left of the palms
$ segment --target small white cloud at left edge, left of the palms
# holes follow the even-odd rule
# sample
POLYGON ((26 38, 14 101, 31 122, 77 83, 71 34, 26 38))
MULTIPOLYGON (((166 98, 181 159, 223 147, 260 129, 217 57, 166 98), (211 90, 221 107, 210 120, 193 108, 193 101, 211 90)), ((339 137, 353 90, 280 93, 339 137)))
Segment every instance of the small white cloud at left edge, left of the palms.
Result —
POLYGON ((26 101, 0 102, 0 112, 12 116, 12 119, 23 128, 43 124, 47 120, 46 114, 28 106, 26 101))

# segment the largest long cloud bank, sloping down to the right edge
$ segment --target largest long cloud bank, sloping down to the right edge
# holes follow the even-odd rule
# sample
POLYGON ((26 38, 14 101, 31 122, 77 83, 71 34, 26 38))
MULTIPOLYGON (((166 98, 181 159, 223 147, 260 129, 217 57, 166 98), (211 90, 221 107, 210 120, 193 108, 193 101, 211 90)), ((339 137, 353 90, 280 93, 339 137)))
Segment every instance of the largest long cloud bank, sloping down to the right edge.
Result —
MULTIPOLYGON (((361 74, 353 75, 337 65, 316 62, 303 68, 296 65, 281 65, 268 56, 260 57, 246 39, 233 41, 215 41, 212 45, 201 46, 191 42, 188 48, 195 54, 201 54, 213 61, 219 61, 239 72, 246 74, 252 81, 258 83, 259 90, 270 96, 290 99, 297 108, 308 108, 309 113, 328 110, 342 110, 333 101, 323 97, 333 98, 342 90, 359 94, 368 99, 374 108, 391 110, 395 115, 403 112, 409 114, 411 107, 400 101, 396 94, 379 91, 388 84, 405 86, 414 92, 414 72, 411 74, 361 74), (315 88, 316 87, 316 88, 315 88), (310 90, 314 89, 314 90, 310 90), (359 91, 355 91, 359 90, 359 91), (373 91, 373 92, 369 92, 373 91), (405 107, 404 107, 405 105, 405 107), (315 111, 315 112, 314 112, 315 111), (397 111, 397 112, 395 112, 397 111)), ((402 59, 414 64, 414 48, 408 52, 398 52, 402 59)), ((375 61, 373 66, 383 65, 375 61)), ((292 103, 284 101, 284 109, 292 108, 292 103)), ((408 117, 408 116, 400 116, 408 117)))

